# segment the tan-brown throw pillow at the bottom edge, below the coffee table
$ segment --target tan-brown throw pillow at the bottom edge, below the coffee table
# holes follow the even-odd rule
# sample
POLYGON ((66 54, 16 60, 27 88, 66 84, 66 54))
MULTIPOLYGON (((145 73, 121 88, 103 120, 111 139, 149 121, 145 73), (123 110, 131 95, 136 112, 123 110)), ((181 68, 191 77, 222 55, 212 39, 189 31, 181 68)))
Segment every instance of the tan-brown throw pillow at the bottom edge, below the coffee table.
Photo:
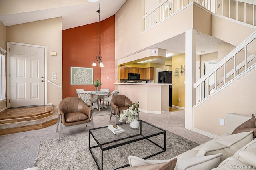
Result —
POLYGON ((174 170, 176 162, 177 162, 177 158, 174 158, 165 163, 148 164, 148 165, 142 165, 142 166, 121 168, 120 170, 122 170, 122 169, 125 169, 125 170, 174 170))

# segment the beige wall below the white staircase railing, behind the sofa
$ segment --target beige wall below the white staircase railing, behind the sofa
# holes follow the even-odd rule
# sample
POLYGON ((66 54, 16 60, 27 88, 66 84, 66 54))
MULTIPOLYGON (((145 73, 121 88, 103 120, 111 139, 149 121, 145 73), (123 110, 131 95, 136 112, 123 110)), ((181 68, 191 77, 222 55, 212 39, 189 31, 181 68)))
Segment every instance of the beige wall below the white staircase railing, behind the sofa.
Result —
POLYGON ((255 115, 255 75, 256 68, 196 107, 194 109, 194 128, 221 135, 225 133, 225 126, 219 125, 219 119, 226 119, 226 113, 255 115))

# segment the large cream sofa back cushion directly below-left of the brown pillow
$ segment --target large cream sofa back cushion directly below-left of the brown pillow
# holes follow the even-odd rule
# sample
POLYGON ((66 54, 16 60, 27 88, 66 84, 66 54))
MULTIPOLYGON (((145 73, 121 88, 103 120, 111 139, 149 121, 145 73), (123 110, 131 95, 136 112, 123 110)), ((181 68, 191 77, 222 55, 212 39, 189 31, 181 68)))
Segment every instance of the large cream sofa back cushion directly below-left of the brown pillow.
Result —
MULTIPOLYGON (((196 156, 213 155, 223 153, 222 160, 233 156, 233 154, 244 145, 253 140, 252 131, 232 134, 204 144, 196 156)), ((221 161, 222 161, 221 160, 221 161)))

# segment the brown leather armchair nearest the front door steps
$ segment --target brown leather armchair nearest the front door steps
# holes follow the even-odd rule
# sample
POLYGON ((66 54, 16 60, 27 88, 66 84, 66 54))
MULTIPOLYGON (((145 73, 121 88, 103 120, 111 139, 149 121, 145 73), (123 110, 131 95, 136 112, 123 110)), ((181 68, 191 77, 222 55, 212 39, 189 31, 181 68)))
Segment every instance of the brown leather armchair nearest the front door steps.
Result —
POLYGON ((67 97, 58 105, 58 126, 60 125, 60 134, 63 128, 74 127, 78 125, 91 124, 93 128, 92 109, 88 107, 82 99, 78 97, 67 97))

